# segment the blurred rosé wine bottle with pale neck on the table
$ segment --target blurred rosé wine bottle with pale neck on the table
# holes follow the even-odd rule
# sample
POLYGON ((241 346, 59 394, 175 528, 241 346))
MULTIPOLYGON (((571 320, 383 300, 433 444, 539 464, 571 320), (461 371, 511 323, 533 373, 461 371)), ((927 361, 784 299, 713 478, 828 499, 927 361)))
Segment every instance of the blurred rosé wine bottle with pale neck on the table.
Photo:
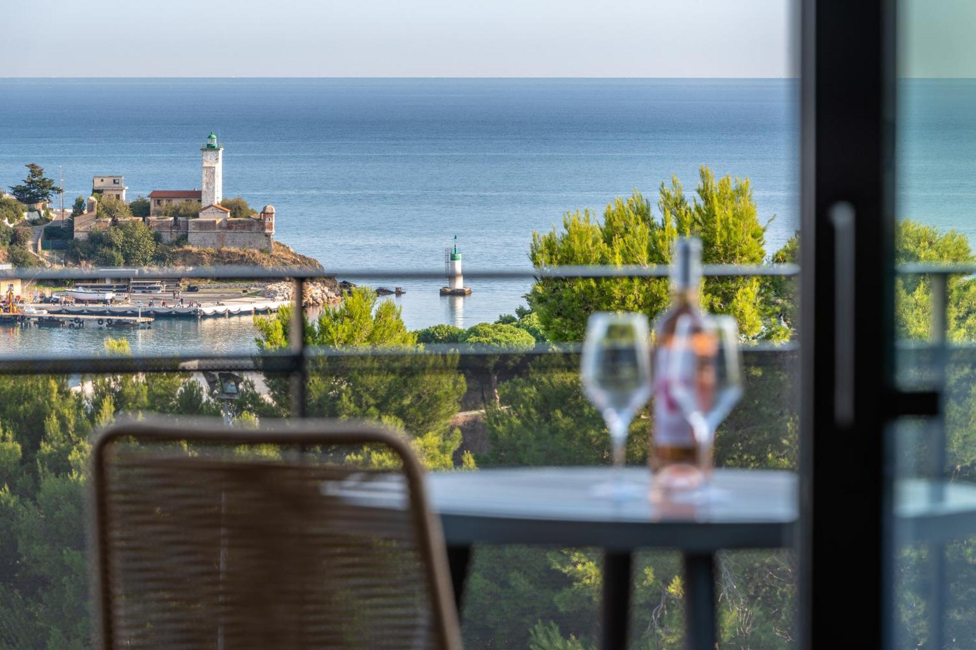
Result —
MULTIPOLYGON (((680 237, 671 255, 671 307, 655 325, 654 426, 648 461, 656 489, 693 489, 711 467, 711 444, 693 423, 713 397, 716 338, 699 302, 702 242, 680 237)), ((698 422, 704 426, 704 422, 698 422)))

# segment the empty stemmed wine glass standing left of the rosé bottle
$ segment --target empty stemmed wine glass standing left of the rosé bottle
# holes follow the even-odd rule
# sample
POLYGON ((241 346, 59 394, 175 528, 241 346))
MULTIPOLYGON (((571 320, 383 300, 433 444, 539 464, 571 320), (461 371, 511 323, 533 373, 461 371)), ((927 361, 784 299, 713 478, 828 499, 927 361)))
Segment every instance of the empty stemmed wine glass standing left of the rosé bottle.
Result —
POLYGON ((634 414, 651 396, 650 328, 642 313, 596 312, 587 323, 580 377, 587 397, 610 431, 614 477, 597 486, 603 496, 625 498, 640 489, 621 479, 634 414))

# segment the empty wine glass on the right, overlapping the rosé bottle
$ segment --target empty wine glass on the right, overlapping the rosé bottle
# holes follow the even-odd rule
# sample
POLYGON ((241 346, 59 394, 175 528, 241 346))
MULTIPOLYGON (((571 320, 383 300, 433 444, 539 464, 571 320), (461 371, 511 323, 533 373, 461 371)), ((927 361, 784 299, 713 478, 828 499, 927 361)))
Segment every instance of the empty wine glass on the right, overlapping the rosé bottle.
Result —
POLYGON ((689 317, 682 316, 675 325, 674 354, 668 372, 683 377, 682 368, 694 364, 692 381, 671 383, 671 395, 688 422, 698 447, 700 481, 712 475, 712 444, 715 430, 728 417, 742 397, 742 363, 739 349, 739 326, 732 316, 710 316, 704 320, 704 337, 693 343, 695 332, 689 317), (690 358, 689 358, 690 357, 690 358))

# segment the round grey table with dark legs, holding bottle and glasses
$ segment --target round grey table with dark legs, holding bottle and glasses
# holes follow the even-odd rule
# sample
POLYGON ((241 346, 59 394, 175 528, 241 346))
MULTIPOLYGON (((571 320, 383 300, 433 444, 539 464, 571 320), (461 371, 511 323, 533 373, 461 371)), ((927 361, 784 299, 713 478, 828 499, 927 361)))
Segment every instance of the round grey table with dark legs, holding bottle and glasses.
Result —
MULTIPOLYGON (((594 496, 611 467, 521 467, 431 473, 431 508, 440 516, 460 607, 474 544, 604 549, 603 648, 627 646, 631 555, 638 548, 681 550, 687 646, 714 648, 714 552, 793 546, 796 477, 788 471, 716 469, 708 490, 668 502, 594 496)), ((650 472, 622 478, 650 491, 650 472)))

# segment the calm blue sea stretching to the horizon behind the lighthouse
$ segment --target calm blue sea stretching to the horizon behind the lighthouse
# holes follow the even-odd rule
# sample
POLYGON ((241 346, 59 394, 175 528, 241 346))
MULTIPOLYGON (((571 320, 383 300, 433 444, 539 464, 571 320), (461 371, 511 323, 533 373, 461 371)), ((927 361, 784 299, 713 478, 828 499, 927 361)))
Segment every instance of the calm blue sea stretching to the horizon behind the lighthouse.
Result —
MULTIPOLYGON (((0 184, 34 162, 65 204, 92 177, 125 175, 129 198, 200 186, 199 147, 224 144, 224 196, 275 207, 275 238, 341 279, 374 286, 409 328, 494 321, 530 280, 470 280, 442 298, 455 242, 470 269, 531 269, 533 232, 599 215, 641 191, 652 204, 698 170, 748 178, 771 255, 798 227, 795 79, 0 79, 0 184)), ((899 216, 976 237, 976 80, 903 82, 899 216)), ((0 331, 0 354, 251 351, 250 318, 151 330, 0 331)))

